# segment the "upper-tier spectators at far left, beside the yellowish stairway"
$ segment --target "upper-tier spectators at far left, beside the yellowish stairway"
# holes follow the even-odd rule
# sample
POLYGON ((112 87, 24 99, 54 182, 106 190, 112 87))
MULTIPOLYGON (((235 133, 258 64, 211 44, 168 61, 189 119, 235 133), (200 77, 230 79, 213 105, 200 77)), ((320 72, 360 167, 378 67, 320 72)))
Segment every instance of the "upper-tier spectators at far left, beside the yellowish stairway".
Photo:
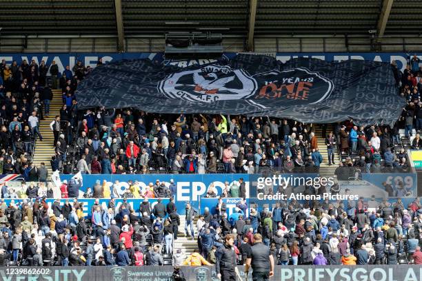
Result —
MULTIPOLYGON (((101 61, 99 61, 101 64, 101 61)), ((38 177, 45 180, 37 169, 32 166, 34 146, 43 136, 39 131, 40 121, 50 114, 50 102, 53 98, 52 89, 61 89, 63 102, 68 92, 74 92, 78 81, 90 72, 90 67, 83 67, 78 62, 72 70, 66 66, 63 73, 59 73, 58 65, 52 61, 46 65, 45 61, 38 63, 34 60, 17 61, 11 64, 2 60, 0 63, 0 174, 22 174, 26 180, 38 177), (31 174, 31 176, 28 176, 31 174)), ((77 103, 69 110, 77 111, 77 103)), ((58 120, 59 121, 59 120, 58 120)), ((72 125, 64 119, 63 122, 53 124, 54 136, 56 132, 72 132, 72 125)), ((66 134, 63 138, 54 138, 52 145, 66 148, 71 138, 66 134), (61 141, 61 143, 58 143, 61 141)), ((65 156, 66 158, 66 156, 65 156)))

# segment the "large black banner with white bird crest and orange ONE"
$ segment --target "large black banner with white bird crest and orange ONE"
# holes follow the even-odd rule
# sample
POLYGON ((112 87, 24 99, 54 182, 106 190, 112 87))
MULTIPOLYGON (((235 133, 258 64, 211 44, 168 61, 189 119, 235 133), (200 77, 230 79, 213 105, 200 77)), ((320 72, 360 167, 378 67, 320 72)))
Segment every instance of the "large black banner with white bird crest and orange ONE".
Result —
POLYGON ((238 54, 176 67, 148 59, 96 67, 77 90, 79 109, 136 107, 156 113, 245 114, 331 123, 392 124, 405 104, 392 69, 376 61, 330 63, 238 54))

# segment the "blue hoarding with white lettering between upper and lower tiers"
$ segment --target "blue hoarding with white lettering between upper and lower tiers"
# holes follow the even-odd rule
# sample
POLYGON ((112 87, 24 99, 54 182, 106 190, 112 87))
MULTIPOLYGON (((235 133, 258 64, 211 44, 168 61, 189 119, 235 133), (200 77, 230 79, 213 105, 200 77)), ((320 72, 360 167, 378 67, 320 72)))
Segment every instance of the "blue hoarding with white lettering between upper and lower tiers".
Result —
MULTIPOLYGON (((74 175, 61 175, 60 180, 69 180, 74 175)), ((247 197, 258 197, 259 193, 268 193, 268 189, 272 190, 272 193, 276 193, 279 187, 279 183, 287 183, 288 187, 291 187, 292 191, 299 192, 296 189, 298 186, 297 183, 307 182, 305 180, 313 180, 312 185, 314 187, 321 186, 321 178, 319 174, 281 174, 276 177, 276 185, 274 184, 265 184, 265 180, 270 179, 274 180, 273 175, 261 175, 261 174, 146 174, 146 175, 82 175, 83 185, 81 191, 86 191, 88 187, 93 187, 95 183, 99 180, 100 183, 103 183, 103 180, 106 180, 111 186, 116 183, 116 180, 119 181, 119 191, 121 194, 124 193, 125 189, 129 187, 129 180, 137 180, 139 186, 144 189, 148 186, 149 183, 155 184, 156 180, 159 180, 160 183, 165 183, 166 186, 170 185, 170 180, 174 180, 174 183, 177 185, 177 194, 176 199, 180 201, 191 201, 194 204, 199 200, 199 198, 205 197, 205 194, 208 191, 208 188, 211 184, 216 187, 218 195, 223 191, 225 182, 228 182, 229 185, 233 183, 238 183, 240 178, 243 178, 246 186, 246 196, 247 197), (296 181, 295 178, 303 178, 304 180, 296 181), (316 182, 315 180, 319 180, 316 182)), ((325 178, 327 179, 327 178, 325 178)), ((325 181, 330 185, 328 180, 325 181)), ((415 197, 417 191, 417 174, 403 174, 403 173, 383 173, 383 174, 362 174, 362 180, 354 181, 341 181, 339 185, 341 187, 340 193, 344 193, 345 189, 350 189, 350 192, 355 192, 359 196, 364 198, 370 198, 374 195, 376 198, 383 197, 397 197, 397 189, 403 183, 404 191, 399 197, 415 197), (389 195, 385 190, 384 183, 388 183, 392 186, 393 196, 389 195)), ((308 183, 307 183, 308 184, 308 183)))

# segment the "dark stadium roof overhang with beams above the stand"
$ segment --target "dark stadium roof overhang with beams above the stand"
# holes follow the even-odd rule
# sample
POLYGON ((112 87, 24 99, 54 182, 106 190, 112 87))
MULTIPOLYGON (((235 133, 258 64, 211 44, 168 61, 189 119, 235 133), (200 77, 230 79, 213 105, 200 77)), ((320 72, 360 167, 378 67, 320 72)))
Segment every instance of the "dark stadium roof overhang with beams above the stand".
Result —
MULTIPOLYGON (((419 36, 410 0, 0 0, 0 38, 9 36, 163 37, 165 32, 243 37, 419 36)), ((416 3, 416 7, 415 7, 416 3)))

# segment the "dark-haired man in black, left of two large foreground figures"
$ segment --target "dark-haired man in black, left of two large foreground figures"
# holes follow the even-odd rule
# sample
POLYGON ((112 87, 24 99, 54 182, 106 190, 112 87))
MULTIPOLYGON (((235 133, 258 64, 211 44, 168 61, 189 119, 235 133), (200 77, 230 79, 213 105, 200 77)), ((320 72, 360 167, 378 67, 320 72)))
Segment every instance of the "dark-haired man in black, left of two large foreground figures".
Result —
POLYGON ((217 278, 222 281, 236 281, 236 252, 234 251, 234 236, 228 234, 224 238, 224 246, 217 250, 215 268, 217 278))

